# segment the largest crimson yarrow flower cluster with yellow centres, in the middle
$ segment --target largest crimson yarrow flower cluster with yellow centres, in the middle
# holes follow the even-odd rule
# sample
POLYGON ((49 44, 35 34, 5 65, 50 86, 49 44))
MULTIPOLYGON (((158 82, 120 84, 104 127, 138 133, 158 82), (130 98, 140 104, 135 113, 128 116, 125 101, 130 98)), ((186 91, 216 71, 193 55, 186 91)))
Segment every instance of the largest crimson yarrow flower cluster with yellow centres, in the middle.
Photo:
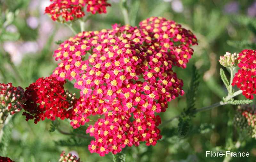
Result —
POLYGON ((126 145, 155 145, 167 102, 183 95, 172 67, 186 68, 195 35, 174 21, 151 17, 140 26, 77 34, 54 52, 61 60, 52 76, 75 80, 81 97, 68 110, 74 128, 101 115, 86 130, 95 140, 89 150, 104 156, 126 145))

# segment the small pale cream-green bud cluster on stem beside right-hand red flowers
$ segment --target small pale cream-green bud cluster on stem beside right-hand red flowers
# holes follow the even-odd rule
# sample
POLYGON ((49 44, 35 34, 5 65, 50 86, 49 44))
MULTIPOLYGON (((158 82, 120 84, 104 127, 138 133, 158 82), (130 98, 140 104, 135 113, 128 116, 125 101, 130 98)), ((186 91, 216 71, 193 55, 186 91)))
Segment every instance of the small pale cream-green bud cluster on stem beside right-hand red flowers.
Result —
POLYGON ((220 56, 220 64, 226 68, 234 68, 237 66, 238 62, 238 55, 236 53, 231 54, 226 52, 224 56, 220 56))

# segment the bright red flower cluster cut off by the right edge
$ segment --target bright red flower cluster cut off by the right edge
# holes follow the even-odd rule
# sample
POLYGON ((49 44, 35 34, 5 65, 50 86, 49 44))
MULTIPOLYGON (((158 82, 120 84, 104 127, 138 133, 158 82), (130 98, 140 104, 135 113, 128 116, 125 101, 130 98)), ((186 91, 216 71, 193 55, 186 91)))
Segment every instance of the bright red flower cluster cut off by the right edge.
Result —
POLYGON ((256 94, 256 51, 245 49, 239 53, 238 67, 232 85, 236 85, 243 91, 247 99, 253 99, 256 94))

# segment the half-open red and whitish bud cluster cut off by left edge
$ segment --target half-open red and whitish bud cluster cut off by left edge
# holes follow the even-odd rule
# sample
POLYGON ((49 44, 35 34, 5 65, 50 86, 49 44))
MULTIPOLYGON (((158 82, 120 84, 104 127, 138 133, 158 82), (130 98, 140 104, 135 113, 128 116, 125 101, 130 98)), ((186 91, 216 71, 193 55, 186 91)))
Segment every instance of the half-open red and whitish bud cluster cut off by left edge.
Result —
POLYGON ((13 115, 23 108, 24 90, 19 87, 13 87, 12 83, 0 84, 0 128, 3 126, 9 114, 13 115))

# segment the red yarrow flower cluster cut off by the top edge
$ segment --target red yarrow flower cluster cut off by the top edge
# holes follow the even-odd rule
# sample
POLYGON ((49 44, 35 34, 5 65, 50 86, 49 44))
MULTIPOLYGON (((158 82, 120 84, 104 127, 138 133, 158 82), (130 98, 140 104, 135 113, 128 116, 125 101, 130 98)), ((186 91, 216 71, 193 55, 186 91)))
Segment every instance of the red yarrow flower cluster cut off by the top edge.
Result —
POLYGON ((53 21, 72 21, 84 17, 83 11, 87 4, 87 11, 92 14, 106 13, 110 6, 107 0, 51 0, 53 3, 45 8, 45 13, 51 15, 53 21))

